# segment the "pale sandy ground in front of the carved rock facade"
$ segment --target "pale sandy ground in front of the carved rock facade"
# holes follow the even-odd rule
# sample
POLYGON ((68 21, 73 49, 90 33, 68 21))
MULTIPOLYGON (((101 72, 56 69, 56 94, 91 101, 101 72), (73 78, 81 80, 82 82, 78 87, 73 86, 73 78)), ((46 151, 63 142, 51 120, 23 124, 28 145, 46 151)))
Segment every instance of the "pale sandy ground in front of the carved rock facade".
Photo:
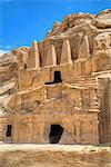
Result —
POLYGON ((1 143, 0 167, 111 167, 111 147, 1 143))

